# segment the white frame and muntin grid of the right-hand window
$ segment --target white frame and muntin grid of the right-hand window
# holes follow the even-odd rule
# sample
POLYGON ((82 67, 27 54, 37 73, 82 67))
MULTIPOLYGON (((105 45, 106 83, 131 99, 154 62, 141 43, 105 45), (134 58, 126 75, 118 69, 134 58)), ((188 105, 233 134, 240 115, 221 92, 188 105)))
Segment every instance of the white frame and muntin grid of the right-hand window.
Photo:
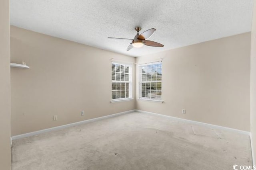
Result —
POLYGON ((153 101, 153 102, 163 102, 162 100, 162 61, 157 61, 157 62, 152 62, 152 63, 144 63, 144 64, 139 64, 138 65, 138 100, 149 100, 149 101, 153 101), (158 67, 160 64, 160 67, 158 67), (152 66, 153 65, 153 66, 152 66), (143 67, 147 67, 147 66, 151 66, 151 69, 156 67, 156 69, 154 68, 154 70, 156 70, 156 72, 160 69, 160 80, 158 80, 158 74, 156 74, 154 76, 154 78, 156 78, 156 80, 152 81, 152 70, 150 70, 150 81, 147 81, 148 75, 145 73, 145 77, 142 78, 143 74, 142 74, 142 68, 143 67), (144 79, 144 80, 142 80, 144 79), (142 85, 143 83, 145 83, 144 88, 142 89, 142 85), (155 89, 152 88, 152 84, 155 83, 155 89), (148 89, 146 86, 150 84, 150 89, 148 89), (157 90, 157 86, 159 88, 160 84, 160 90, 157 90), (148 90, 147 90, 148 89, 148 90), (152 90, 153 89, 153 90, 152 90), (144 95, 142 94, 142 92, 145 91, 144 95), (150 91, 150 95, 155 95, 155 97, 147 97, 147 91, 150 91), (152 91, 155 94, 152 94, 152 91), (160 93, 160 96, 157 96, 157 93, 160 93))

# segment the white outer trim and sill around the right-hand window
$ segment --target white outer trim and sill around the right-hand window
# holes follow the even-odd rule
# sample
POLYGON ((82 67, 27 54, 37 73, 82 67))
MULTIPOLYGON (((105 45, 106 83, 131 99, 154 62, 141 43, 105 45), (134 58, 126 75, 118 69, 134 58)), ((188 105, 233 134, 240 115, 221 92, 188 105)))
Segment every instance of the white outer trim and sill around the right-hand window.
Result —
MULTIPOLYGON (((156 62, 150 62, 150 63, 143 63, 143 64, 139 64, 138 65, 138 99, 137 100, 144 100, 144 101, 150 101, 150 102, 161 102, 163 103, 164 101, 162 100, 162 94, 161 94, 161 99, 149 99, 149 98, 142 98, 141 96, 141 90, 140 90, 140 83, 141 83, 141 73, 140 73, 140 66, 147 66, 147 65, 151 65, 151 64, 162 64, 162 61, 156 61, 156 62)), ((150 82, 154 82, 154 81, 150 81, 150 82)), ((157 81, 156 81, 157 82, 157 81)), ((162 84, 162 80, 161 80, 161 84, 162 84)), ((162 86, 161 86, 162 89, 162 86)), ((162 92, 162 90, 161 90, 162 92)))

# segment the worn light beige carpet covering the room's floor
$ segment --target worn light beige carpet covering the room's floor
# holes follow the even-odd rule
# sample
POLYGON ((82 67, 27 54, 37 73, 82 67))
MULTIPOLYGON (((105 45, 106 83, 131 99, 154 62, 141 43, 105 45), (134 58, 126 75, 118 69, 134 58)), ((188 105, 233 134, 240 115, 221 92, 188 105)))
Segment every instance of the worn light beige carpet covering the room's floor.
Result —
POLYGON ((250 137, 145 113, 13 141, 12 170, 232 170, 252 165, 250 137))

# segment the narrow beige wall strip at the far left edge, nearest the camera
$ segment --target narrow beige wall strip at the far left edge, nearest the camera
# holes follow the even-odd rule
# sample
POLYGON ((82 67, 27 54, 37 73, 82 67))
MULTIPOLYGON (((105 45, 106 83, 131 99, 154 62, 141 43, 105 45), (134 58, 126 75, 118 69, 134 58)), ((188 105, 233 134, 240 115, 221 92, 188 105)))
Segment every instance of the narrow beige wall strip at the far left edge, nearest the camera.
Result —
POLYGON ((10 20, 9 0, 0 1, 0 169, 10 170, 10 20))

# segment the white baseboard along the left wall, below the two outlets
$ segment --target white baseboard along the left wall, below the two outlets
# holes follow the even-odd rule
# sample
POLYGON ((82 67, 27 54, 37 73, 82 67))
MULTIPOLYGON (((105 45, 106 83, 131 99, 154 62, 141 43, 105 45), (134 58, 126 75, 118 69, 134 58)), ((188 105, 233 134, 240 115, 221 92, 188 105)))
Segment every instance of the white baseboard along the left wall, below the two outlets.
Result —
POLYGON ((40 131, 24 133, 24 134, 21 134, 21 135, 12 136, 11 140, 21 139, 21 138, 29 137, 29 136, 33 136, 33 135, 38 135, 40 133, 56 131, 56 130, 59 130, 59 129, 64 129, 66 127, 72 127, 72 126, 76 126, 76 125, 81 125, 81 124, 84 124, 84 123, 88 123, 88 122, 92 122, 92 121, 98 121, 98 120, 106 119, 106 118, 110 118, 110 117, 116 117, 118 115, 123 115, 123 114, 126 114, 126 113, 132 113, 134 111, 135 110, 129 110, 129 111, 124 111, 124 112, 120 112, 120 113, 115 113, 115 114, 112 114, 112 115, 106 115, 106 116, 102 116, 102 117, 97 117, 97 118, 93 118, 93 119, 88 119, 88 120, 84 120, 84 121, 70 123, 70 124, 67 124, 67 125, 61 125, 61 126, 57 126, 57 127, 51 127, 51 128, 48 128, 48 129, 42 129, 40 131))

